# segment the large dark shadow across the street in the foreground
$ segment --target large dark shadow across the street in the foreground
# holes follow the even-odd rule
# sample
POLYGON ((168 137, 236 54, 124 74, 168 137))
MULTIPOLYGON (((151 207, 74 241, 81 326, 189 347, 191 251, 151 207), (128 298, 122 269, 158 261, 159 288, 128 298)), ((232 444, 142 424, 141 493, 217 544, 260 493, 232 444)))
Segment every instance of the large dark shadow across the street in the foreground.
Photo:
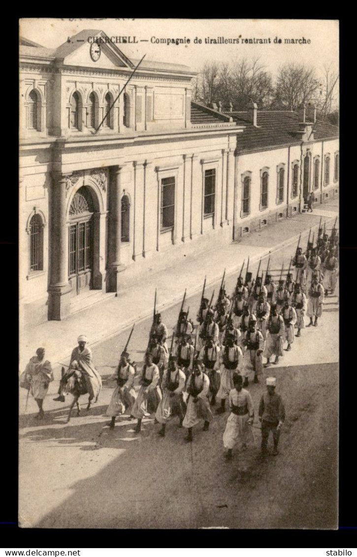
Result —
MULTIPOLYGON (((67 409, 50 412, 50 423, 38 428, 31 424, 31 431, 22 439, 78 444, 84 451, 108 447, 126 450, 90 478, 73 484, 67 480, 65 487, 73 493, 35 526, 335 527, 338 364, 281 368, 277 377, 287 419, 280 454, 264 460, 257 421, 262 383, 250 387, 256 413, 255 446, 247 451, 233 449, 231 462, 223 458, 222 443, 228 413, 215 416, 208 432, 202 431, 202 424, 196 426, 193 443, 185 443, 186 431, 177 427, 177 418, 168 424, 167 436, 160 438, 159 426, 152 420, 143 424, 138 436, 129 431, 133 422, 124 418, 109 430, 104 427, 108 419, 102 416, 104 406, 91 409, 87 422, 73 418, 62 427, 58 426, 67 409), (76 425, 76 420, 81 423, 76 425), (81 446, 84 442, 92 444, 81 446), (93 512, 87 504, 93 493, 100 512, 93 512)), ((58 482, 60 487, 63 478, 58 477, 58 482)))

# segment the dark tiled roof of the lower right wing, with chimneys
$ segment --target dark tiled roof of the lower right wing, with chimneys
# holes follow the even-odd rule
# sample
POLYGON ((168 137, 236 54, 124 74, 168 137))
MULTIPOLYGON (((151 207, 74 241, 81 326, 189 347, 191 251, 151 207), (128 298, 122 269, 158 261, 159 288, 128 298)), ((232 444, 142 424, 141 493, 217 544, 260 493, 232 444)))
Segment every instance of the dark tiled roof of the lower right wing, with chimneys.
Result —
MULTIPOLYGON (((299 130, 299 114, 290 111, 258 110, 257 126, 255 128, 248 118, 247 112, 226 113, 232 116, 239 125, 246 126, 238 136, 238 149, 259 149, 274 145, 300 143, 295 132, 299 130)), ((327 139, 338 137, 336 126, 317 120, 314 126, 314 139, 327 139)))

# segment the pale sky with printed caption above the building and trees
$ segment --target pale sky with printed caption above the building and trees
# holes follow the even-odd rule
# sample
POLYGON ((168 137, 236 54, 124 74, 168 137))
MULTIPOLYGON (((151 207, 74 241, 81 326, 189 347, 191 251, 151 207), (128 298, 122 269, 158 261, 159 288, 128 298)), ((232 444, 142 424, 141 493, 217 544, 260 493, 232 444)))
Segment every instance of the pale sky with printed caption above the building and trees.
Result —
POLYGON ((339 22, 318 19, 108 19, 29 18, 20 20, 20 35, 48 48, 56 48, 83 29, 97 29, 108 36, 131 36, 135 45, 117 45, 129 58, 182 63, 199 71, 205 61, 232 62, 242 57, 260 57, 266 70, 276 75, 285 62, 302 62, 320 70, 324 64, 335 70, 339 64, 339 22), (153 38, 154 37, 154 38, 153 38), (202 43, 195 43, 194 39, 202 43), (205 38, 239 39, 234 44, 214 44, 205 38), (309 44, 286 44, 286 39, 310 40, 309 44), (152 43, 163 38, 190 39, 180 45, 152 43), (270 43, 242 40, 270 38, 270 43), (281 43, 277 41, 281 39, 281 43), (276 40, 276 42, 274 42, 276 40), (140 42, 141 41, 141 42, 140 42), (144 42, 145 41, 145 42, 144 42), (146 42, 148 41, 148 42, 146 42))

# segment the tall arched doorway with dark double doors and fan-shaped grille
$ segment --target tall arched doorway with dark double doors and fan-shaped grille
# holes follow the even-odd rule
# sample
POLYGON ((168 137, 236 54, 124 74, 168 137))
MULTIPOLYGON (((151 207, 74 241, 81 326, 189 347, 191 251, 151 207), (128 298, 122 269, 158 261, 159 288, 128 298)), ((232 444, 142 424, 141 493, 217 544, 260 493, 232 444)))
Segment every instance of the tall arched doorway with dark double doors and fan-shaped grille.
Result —
POLYGON ((69 283, 72 296, 93 288, 94 203, 90 188, 81 187, 70 205, 69 283))

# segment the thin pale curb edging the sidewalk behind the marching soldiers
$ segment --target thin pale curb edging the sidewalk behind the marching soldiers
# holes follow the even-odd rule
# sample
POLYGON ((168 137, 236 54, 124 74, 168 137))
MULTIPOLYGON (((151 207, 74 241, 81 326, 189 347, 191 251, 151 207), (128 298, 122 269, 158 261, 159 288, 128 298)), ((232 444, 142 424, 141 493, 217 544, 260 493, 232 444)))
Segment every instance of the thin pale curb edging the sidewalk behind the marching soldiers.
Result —
MULTIPOLYGON (((331 220, 333 220, 334 218, 335 218, 335 216, 331 217, 331 220)), ((330 220, 330 218, 327 217, 326 221, 329 221, 329 220, 330 220)), ((318 228, 319 228, 319 224, 315 224, 314 226, 311 227, 311 231, 315 231, 315 229, 318 230, 318 228)), ((307 231, 309 229, 310 228, 307 228, 304 231, 301 231, 301 236, 305 233, 307 234, 307 231)), ((300 236, 300 233, 296 234, 295 236, 292 236, 291 238, 288 238, 288 240, 285 240, 283 242, 275 244, 275 246, 273 246, 270 249, 265 248, 259 255, 253 256, 250 259, 250 264, 251 263, 256 263, 260 259, 266 258, 266 257, 272 255, 272 253, 275 253, 278 250, 281 250, 282 248, 287 247, 294 242, 297 242, 297 240, 299 240, 299 236, 300 236)), ((238 245, 238 243, 237 243, 237 245, 238 245)), ((241 268, 241 263, 235 265, 234 267, 231 267, 230 269, 228 269, 226 271, 226 276, 233 275, 234 273, 239 271, 240 268, 241 268)), ((206 282, 206 288, 209 287, 209 286, 213 286, 214 284, 216 284, 216 282, 221 280, 221 278, 222 278, 222 271, 219 274, 217 274, 214 278, 212 278, 209 282, 206 282)), ((201 290, 202 290, 202 285, 198 286, 197 288, 193 288, 192 290, 189 290, 187 292, 186 296, 187 296, 187 298, 190 297, 190 296, 194 296, 195 294, 197 294, 201 290)), ((160 305, 158 305, 157 311, 160 312, 160 311, 163 311, 165 309, 169 309, 170 307, 173 307, 174 305, 178 304, 180 301, 182 301, 182 295, 181 294, 180 294, 180 296, 177 296, 172 300, 169 300, 167 302, 162 302, 160 305)), ((152 313, 153 312, 150 310, 150 311, 145 312, 144 314, 141 314, 141 315, 137 316, 136 318, 131 318, 131 319, 126 320, 124 323, 122 323, 120 325, 120 327, 118 329, 112 330, 110 333, 104 334, 104 335, 100 336, 100 338, 98 338, 97 340, 91 342, 91 346, 96 346, 97 344, 102 343, 104 340, 109 340, 109 339, 113 338, 114 336, 122 333, 126 329, 129 329, 131 326, 133 326, 134 323, 135 324, 142 323, 143 321, 145 321, 145 319, 148 319, 148 317, 150 317, 152 315, 152 313)), ((66 355, 60 356, 58 359, 66 361, 71 357, 71 353, 72 353, 72 351, 70 351, 66 355)), ((53 367, 55 367, 55 366, 57 367, 57 364, 62 365, 62 363, 60 361, 58 361, 58 359, 54 361, 53 367)))

